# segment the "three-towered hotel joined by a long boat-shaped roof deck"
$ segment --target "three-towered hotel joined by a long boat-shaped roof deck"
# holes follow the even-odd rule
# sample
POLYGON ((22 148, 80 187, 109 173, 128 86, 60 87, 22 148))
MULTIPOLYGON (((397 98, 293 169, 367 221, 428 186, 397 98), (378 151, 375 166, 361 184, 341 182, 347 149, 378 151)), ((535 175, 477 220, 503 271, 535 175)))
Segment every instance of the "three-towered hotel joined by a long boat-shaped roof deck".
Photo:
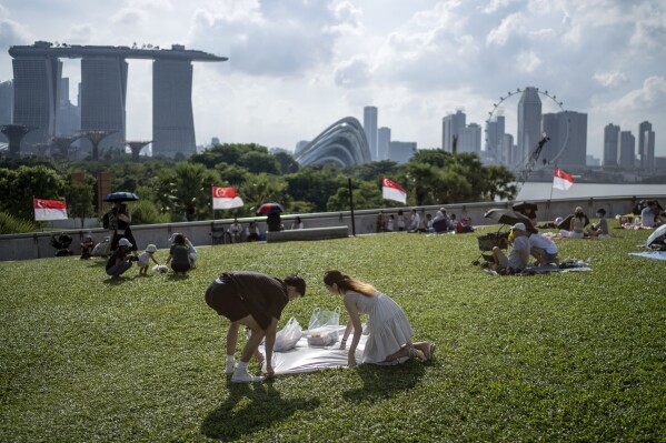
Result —
MULTIPOLYGON (((53 46, 37 41, 9 49, 13 58, 13 124, 31 128, 21 145, 51 143, 57 134, 62 58, 81 59, 81 133, 103 134, 99 148, 122 148, 126 139, 127 59, 152 60, 152 154, 196 152, 192 61, 226 61, 202 51, 107 46, 53 46)), ((92 139, 91 139, 92 140, 92 139)))

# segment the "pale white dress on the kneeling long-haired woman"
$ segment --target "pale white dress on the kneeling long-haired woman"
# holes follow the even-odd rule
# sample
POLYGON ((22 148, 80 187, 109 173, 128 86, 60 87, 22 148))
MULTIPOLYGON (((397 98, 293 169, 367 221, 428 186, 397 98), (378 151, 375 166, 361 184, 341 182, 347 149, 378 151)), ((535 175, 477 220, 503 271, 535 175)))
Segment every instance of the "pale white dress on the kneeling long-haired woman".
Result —
POLYGON ((348 291, 354 298, 358 312, 368 314, 362 363, 381 363, 390 354, 400 350, 414 336, 414 330, 402 309, 388 295, 375 291, 372 296, 348 291))

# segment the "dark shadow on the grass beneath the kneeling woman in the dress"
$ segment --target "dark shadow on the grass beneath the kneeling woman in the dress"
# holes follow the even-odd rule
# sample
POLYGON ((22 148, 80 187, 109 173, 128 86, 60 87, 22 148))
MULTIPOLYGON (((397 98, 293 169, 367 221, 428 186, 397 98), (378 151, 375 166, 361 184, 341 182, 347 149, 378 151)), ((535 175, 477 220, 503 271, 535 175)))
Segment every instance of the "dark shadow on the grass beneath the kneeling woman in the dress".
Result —
POLYGON ((425 372, 424 364, 414 361, 395 366, 364 364, 358 369, 364 385, 342 392, 342 397, 351 403, 388 399, 416 386, 425 372))

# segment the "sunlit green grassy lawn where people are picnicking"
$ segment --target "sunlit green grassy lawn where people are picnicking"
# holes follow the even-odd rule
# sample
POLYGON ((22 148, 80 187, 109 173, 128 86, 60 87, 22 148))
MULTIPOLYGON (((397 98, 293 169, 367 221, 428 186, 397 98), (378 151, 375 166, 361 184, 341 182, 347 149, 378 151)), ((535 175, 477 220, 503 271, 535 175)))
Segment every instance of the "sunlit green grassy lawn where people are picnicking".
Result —
POLYGON ((0 263, 0 441, 666 441, 666 261, 627 254, 648 231, 614 233, 559 241, 593 272, 529 278, 470 265, 477 233, 202 246, 185 279, 0 263), (298 271, 308 294, 280 324, 307 324, 341 305, 331 268, 391 295, 436 360, 228 382, 208 284, 298 271))

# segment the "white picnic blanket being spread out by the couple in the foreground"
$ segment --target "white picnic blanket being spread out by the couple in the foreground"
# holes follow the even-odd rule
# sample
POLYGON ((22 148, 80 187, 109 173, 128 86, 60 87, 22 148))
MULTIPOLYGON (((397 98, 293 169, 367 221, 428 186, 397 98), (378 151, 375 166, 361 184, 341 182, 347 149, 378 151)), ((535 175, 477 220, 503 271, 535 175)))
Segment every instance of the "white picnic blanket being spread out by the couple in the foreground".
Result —
MULTIPOLYGON (((339 326, 338 338, 345 333, 345 326, 339 326)), ((296 348, 287 352, 274 352, 272 369, 276 375, 298 374, 302 372, 314 372, 325 369, 347 368, 347 350, 340 350, 340 340, 328 346, 308 345, 308 331, 304 331, 302 336, 296 343, 296 348)), ((356 348, 356 361, 360 362, 366 348, 367 335, 361 335, 356 348)), ((259 346, 261 353, 266 353, 264 345, 259 346)))

